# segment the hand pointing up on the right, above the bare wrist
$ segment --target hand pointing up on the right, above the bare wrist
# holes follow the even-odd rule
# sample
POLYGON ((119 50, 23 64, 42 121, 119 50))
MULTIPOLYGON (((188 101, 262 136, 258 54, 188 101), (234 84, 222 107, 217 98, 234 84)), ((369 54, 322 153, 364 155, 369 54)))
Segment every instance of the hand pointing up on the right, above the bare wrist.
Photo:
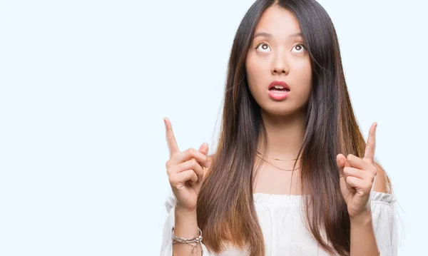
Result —
POLYGON ((370 127, 364 158, 355 155, 337 155, 337 167, 340 170, 340 191, 347 204, 351 220, 371 213, 370 190, 372 189, 377 168, 374 166, 374 148, 377 123, 370 127))

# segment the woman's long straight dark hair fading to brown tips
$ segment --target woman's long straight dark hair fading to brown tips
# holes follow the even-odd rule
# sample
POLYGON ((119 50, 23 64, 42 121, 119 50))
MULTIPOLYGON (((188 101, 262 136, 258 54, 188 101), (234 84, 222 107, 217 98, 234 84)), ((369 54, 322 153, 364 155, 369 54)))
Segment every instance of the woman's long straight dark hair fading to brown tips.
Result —
POLYGON ((309 195, 302 197, 307 224, 322 248, 349 255, 350 217, 340 193, 336 155, 362 158, 365 140, 352 110, 335 28, 315 0, 258 0, 243 17, 228 63, 218 148, 198 196, 198 225, 204 244, 214 252, 230 242, 241 248, 250 245, 250 255, 265 255, 253 202, 253 164, 258 138, 266 137, 260 106, 248 88, 245 59, 260 16, 273 4, 296 16, 312 66, 299 151, 302 193, 309 195))

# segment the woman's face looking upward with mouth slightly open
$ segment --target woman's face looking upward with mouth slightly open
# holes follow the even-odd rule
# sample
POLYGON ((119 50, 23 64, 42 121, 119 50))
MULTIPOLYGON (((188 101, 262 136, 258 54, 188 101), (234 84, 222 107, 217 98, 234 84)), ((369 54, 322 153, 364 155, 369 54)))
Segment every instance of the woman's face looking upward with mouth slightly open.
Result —
POLYGON ((295 16, 277 5, 270 6, 256 26, 245 68, 251 94, 267 113, 289 115, 309 99, 312 69, 302 37, 295 35, 299 33, 295 16), (274 81, 287 83, 290 90, 269 89, 274 81))

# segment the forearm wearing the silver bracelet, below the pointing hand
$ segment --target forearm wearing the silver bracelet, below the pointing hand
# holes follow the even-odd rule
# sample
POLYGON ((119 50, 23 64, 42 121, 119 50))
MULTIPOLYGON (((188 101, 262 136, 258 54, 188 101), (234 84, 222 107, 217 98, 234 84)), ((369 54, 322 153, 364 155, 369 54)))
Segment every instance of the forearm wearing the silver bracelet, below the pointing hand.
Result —
MULTIPOLYGON (((178 237, 191 238, 198 233, 198 220, 195 211, 175 209, 175 227, 174 233, 178 237)), ((192 244, 194 245, 194 244, 192 244)), ((173 256, 199 256, 202 255, 200 243, 192 252, 190 244, 176 242, 173 244, 173 256), (198 251, 196 253, 196 251, 198 251)))

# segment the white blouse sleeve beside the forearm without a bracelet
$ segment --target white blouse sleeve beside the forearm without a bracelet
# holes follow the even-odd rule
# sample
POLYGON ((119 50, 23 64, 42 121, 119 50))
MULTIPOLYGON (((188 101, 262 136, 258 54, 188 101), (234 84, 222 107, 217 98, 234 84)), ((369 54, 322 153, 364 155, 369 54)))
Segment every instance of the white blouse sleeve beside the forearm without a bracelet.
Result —
POLYGON ((370 195, 374 236, 381 256, 397 256, 397 215, 392 194, 372 191, 370 195))

